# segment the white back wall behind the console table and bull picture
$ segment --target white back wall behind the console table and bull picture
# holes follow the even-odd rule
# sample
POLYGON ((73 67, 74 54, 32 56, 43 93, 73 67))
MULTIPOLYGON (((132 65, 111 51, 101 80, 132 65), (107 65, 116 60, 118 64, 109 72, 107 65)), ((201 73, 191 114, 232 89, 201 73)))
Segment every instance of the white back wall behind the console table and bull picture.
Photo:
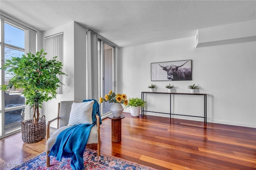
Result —
MULTIPOLYGON (((118 85, 128 97, 141 97, 155 83, 158 92, 167 92, 171 83, 176 92, 189 93, 188 85, 207 93, 207 121, 256 128, 256 42, 195 48, 195 37, 148 43, 119 50, 118 85), (150 63, 192 59, 192 81, 151 81, 150 63)), ((166 74, 163 72, 163 74, 166 74)), ((146 109, 170 112, 168 95, 147 95, 146 109)), ((173 101, 173 100, 172 100, 173 101)), ((203 98, 176 95, 173 113, 203 115, 203 98)), ((169 115, 146 113, 148 115, 169 115)), ((202 118, 181 117, 203 121, 202 118)))

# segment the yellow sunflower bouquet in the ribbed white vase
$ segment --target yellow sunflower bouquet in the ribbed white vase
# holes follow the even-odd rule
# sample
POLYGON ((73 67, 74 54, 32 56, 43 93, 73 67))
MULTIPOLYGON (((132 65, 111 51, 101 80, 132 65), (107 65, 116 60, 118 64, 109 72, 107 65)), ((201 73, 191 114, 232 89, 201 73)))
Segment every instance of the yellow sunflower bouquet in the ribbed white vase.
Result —
POLYGON ((126 94, 115 94, 112 90, 109 91, 105 98, 100 97, 100 103, 103 101, 108 101, 109 103, 122 103, 125 106, 128 104, 126 94))

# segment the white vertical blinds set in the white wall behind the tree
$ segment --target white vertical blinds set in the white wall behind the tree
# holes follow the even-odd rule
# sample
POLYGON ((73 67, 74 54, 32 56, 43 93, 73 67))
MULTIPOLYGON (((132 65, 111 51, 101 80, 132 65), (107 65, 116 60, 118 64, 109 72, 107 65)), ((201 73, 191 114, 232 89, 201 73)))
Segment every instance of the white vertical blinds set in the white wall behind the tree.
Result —
MULTIPOLYGON (((58 56, 57 59, 63 64, 63 32, 45 37, 45 52, 47 58, 58 56)), ((62 75, 58 75, 61 81, 62 75)), ((58 94, 62 94, 62 85, 57 89, 58 94)))

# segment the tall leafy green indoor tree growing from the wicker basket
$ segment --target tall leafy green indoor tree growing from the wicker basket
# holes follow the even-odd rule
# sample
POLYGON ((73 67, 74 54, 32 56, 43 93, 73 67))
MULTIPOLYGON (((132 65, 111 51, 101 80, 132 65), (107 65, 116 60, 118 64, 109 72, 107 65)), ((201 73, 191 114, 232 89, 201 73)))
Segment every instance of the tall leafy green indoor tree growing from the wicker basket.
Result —
POLYGON ((29 52, 27 56, 12 57, 1 68, 12 78, 6 85, 1 85, 0 89, 23 89, 26 105, 33 106, 34 123, 39 121, 39 108, 42 108, 42 103, 56 98, 56 90, 63 84, 58 75, 66 75, 61 71, 63 65, 56 59, 57 56, 48 60, 45 58, 46 54, 41 49, 36 55, 29 52))

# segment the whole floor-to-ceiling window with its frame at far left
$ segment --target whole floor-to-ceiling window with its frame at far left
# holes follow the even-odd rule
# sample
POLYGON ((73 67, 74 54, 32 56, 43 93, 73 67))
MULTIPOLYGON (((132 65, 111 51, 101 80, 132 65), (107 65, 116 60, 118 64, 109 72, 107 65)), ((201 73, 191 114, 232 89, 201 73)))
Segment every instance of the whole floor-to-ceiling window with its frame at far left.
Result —
MULTIPOLYGON (((36 51, 36 32, 22 24, 0 15, 0 53, 1 67, 6 59, 22 57, 28 51, 36 51), (26 43, 25 43, 26 42, 26 43)), ((12 75, 4 70, 0 71, 1 85, 7 84, 12 75)), ((20 131, 20 121, 24 120, 25 98, 23 89, 0 91, 0 138, 20 131)))

